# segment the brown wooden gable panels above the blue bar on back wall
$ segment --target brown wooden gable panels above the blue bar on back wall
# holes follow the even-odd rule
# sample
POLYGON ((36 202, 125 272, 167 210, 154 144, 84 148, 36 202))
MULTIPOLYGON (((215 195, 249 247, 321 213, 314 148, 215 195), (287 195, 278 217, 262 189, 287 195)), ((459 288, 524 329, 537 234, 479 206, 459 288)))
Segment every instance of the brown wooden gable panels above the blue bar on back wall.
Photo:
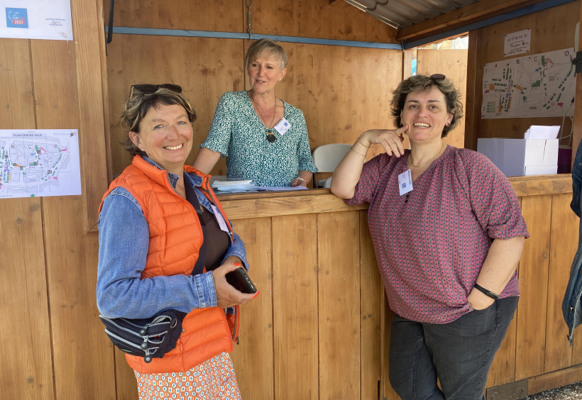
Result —
MULTIPOLYGON (((251 30, 262 35, 397 43, 397 30, 341 1, 247 0, 251 30)), ((104 11, 109 16, 109 1, 104 11)), ((114 26, 248 33, 243 0, 116 2, 114 26)), ((106 18, 107 20, 108 18, 106 18)))

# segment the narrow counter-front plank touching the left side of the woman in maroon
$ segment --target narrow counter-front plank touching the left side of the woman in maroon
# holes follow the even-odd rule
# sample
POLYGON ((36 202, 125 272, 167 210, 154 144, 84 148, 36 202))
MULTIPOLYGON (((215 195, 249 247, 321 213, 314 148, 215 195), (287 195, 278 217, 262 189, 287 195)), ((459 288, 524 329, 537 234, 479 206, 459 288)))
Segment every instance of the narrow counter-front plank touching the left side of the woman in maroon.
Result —
POLYGON ((368 228, 368 211, 360 215, 360 386, 361 399, 375 399, 382 379, 384 285, 368 228))

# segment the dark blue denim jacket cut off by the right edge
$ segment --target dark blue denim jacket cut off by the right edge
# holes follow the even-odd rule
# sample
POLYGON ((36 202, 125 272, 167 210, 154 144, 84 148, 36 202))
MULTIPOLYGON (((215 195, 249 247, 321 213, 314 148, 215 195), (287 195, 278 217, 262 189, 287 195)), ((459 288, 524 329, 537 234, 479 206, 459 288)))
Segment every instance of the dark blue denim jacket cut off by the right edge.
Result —
MULTIPOLYGON (((579 217, 582 209, 581 204, 581 189, 582 189, 582 142, 578 145, 576 150, 576 158, 574 158, 574 166, 572 169, 572 202, 571 209, 579 217)), ((572 268, 570 270, 570 280, 568 287, 566 287, 566 294, 564 294, 564 301, 562 302, 562 313, 568 325, 570 345, 574 334, 574 328, 582 322, 582 307, 580 304, 582 296, 582 223, 578 228, 578 251, 574 256, 572 268)))

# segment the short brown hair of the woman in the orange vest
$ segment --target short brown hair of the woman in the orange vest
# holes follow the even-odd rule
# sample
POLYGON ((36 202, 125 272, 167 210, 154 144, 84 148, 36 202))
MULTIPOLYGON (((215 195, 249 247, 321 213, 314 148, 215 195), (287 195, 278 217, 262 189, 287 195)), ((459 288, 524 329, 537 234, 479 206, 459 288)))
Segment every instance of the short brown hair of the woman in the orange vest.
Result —
MULTIPOLYGON (((121 126, 126 128, 128 132, 139 133, 139 124, 143 117, 146 116, 151 108, 157 108, 162 104, 165 106, 172 106, 174 104, 182 106, 186 110, 188 121, 191 123, 196 121, 196 111, 194 111, 190 102, 181 93, 163 87, 158 87, 155 93, 142 93, 132 86, 123 111, 121 111, 121 126)), ((133 144, 129 135, 121 144, 133 156, 147 156, 146 152, 140 150, 133 144)))

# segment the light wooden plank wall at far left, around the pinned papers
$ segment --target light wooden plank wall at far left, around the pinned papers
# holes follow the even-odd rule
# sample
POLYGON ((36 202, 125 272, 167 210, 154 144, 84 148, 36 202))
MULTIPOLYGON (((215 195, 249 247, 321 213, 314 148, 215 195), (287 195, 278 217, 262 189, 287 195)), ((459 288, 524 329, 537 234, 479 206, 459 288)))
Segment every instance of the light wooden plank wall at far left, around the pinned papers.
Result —
POLYGON ((108 184, 102 8, 71 1, 74 40, 0 39, 0 128, 78 129, 82 177, 80 196, 0 199, 5 399, 115 396, 94 295, 93 230, 108 184))

